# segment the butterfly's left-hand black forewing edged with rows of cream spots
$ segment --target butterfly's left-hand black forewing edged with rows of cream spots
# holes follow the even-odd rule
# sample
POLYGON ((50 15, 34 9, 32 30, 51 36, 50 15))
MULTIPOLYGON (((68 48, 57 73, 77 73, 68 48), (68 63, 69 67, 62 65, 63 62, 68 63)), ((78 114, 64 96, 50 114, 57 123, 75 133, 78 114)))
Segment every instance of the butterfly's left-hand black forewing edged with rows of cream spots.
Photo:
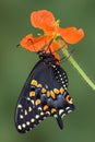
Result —
POLYGON ((44 90, 41 91, 44 87, 40 83, 46 83, 43 76, 46 71, 44 62, 39 61, 29 73, 21 92, 15 111, 15 126, 19 132, 27 132, 48 116, 48 114, 43 111, 40 104, 41 92, 45 92, 44 90))

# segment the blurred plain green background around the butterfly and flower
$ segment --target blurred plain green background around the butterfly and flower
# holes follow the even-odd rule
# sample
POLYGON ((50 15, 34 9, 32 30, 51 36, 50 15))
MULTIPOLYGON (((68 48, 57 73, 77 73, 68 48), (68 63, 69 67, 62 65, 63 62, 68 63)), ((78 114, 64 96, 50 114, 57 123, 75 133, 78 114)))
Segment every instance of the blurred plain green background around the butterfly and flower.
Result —
POLYGON ((38 57, 16 45, 28 33, 36 35, 29 14, 34 10, 52 11, 60 26, 83 27, 85 37, 76 45, 74 59, 95 82, 95 0, 0 0, 0 142, 95 142, 95 91, 69 61, 62 62, 69 75, 69 92, 75 111, 64 117, 59 130, 48 118, 26 134, 17 133, 14 111, 22 86, 38 57))

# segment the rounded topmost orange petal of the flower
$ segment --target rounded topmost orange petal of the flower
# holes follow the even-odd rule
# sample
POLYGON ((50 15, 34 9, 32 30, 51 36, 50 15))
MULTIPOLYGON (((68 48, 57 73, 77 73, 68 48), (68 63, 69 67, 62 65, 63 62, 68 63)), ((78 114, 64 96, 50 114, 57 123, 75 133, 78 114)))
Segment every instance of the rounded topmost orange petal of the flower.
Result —
POLYGON ((55 22, 54 14, 47 10, 34 11, 31 14, 31 22, 34 27, 41 28, 44 31, 51 31, 55 22))

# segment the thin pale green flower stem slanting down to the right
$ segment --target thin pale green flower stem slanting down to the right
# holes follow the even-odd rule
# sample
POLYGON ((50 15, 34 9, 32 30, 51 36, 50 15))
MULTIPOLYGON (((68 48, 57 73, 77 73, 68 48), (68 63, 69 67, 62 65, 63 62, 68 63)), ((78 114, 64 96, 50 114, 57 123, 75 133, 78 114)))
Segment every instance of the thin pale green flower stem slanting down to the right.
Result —
POLYGON ((78 72, 81 74, 81 76, 86 81, 86 83, 95 90, 95 84, 91 81, 91 79, 85 74, 85 72, 81 69, 81 67, 78 64, 78 62, 73 59, 73 57, 69 54, 69 51, 64 48, 62 48, 62 52, 66 57, 69 57, 69 61, 71 64, 78 70, 78 72))

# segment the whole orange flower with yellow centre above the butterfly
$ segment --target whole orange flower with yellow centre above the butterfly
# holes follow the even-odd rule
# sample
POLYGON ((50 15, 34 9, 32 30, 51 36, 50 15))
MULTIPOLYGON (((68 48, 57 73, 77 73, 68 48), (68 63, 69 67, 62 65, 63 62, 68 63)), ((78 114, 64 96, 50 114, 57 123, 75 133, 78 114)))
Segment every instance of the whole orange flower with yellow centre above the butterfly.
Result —
POLYGON ((63 47, 68 48, 67 43, 76 44, 84 36, 82 28, 76 29, 75 27, 59 27, 59 20, 55 21, 54 14, 47 10, 32 12, 31 23, 34 27, 44 31, 44 35, 33 37, 33 35, 29 34, 21 40, 20 45, 31 51, 39 51, 44 48, 47 52, 49 49, 54 52, 61 48, 57 37, 61 37, 60 39, 63 39, 63 47), (51 39, 52 43, 50 44, 49 49, 47 49, 51 39))

